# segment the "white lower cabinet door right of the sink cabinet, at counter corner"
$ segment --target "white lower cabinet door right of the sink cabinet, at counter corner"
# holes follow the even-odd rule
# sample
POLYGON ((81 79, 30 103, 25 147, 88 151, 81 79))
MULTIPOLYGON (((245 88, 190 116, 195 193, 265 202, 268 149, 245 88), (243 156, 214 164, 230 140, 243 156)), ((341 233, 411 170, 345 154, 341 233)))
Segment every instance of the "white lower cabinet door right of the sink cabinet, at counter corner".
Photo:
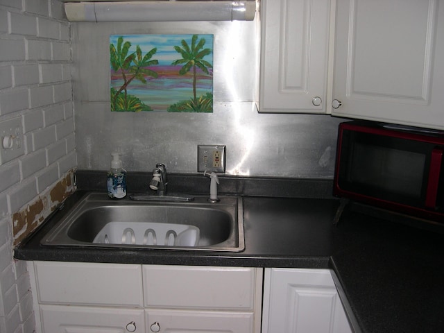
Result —
POLYGON ((352 332, 328 270, 266 268, 262 333, 352 332))

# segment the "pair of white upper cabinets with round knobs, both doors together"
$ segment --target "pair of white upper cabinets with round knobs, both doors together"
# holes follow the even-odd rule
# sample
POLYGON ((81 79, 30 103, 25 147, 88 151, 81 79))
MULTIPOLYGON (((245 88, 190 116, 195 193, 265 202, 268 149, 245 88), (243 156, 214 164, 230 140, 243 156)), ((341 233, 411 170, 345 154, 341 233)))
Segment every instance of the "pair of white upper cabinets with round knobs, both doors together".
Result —
POLYGON ((263 0, 259 112, 444 130, 444 0, 263 0))

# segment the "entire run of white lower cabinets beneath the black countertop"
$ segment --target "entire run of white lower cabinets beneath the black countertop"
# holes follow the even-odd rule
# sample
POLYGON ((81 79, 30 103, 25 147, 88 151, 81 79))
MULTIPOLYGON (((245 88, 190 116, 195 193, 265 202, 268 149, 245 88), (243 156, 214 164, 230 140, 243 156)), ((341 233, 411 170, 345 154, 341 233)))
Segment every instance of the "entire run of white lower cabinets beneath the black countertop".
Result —
POLYGON ((263 279, 263 268, 28 262, 28 271, 37 333, 351 332, 328 270, 265 268, 263 279))

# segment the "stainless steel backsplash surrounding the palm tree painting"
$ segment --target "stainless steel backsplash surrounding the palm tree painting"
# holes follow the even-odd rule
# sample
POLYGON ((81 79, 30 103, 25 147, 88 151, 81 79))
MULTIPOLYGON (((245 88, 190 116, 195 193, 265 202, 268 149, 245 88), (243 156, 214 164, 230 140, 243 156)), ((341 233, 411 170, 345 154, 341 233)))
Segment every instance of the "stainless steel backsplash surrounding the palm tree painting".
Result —
POLYGON ((337 125, 318 114, 259 114, 259 20, 71 25, 78 169, 197 173, 197 145, 224 144, 226 173, 332 178, 337 125), (111 112, 109 36, 214 34, 214 112, 111 112))

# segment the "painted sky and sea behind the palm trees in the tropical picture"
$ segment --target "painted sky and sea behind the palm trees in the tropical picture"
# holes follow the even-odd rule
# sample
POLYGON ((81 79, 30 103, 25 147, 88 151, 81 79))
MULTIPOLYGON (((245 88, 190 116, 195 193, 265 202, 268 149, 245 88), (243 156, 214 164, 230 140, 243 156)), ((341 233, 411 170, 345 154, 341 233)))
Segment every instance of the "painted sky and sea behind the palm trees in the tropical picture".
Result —
MULTIPOLYGON (((142 51, 142 57, 150 52, 153 48, 157 48, 157 51, 151 56, 151 60, 157 60, 157 65, 151 65, 143 67, 155 71, 157 78, 149 75, 144 75, 146 83, 142 83, 141 80, 133 78, 127 85, 126 90, 128 95, 133 95, 139 99, 145 105, 151 108, 153 111, 167 111, 170 105, 189 101, 194 98, 193 94, 193 81, 194 71, 190 67, 186 74, 180 75, 179 71, 185 62, 180 65, 171 65, 175 60, 182 59, 182 54, 174 49, 174 46, 180 46, 181 49, 186 51, 195 51, 194 54, 198 55, 199 50, 192 50, 192 46, 197 46, 198 42, 205 39, 205 44, 200 48, 210 49, 207 51, 202 60, 204 64, 210 64, 206 66, 208 74, 198 67, 196 67, 196 99, 200 96, 210 94, 213 92, 213 35, 198 35, 194 44, 191 42, 193 35, 112 35, 110 37, 110 46, 114 45, 115 49, 118 49, 118 39, 123 37, 121 43, 121 49, 124 42, 130 42, 131 46, 128 49, 128 56, 131 53, 135 53, 137 46, 142 51), (185 40, 189 49, 187 50, 182 45, 182 40, 185 40)), ((192 52, 191 52, 192 53, 192 52)), ((135 64, 133 64, 134 67, 135 64)), ((133 69, 134 71, 134 69, 133 69)), ((125 84, 123 74, 126 76, 126 80, 131 78, 131 69, 116 68, 111 65, 110 68, 110 87, 117 91, 125 84), (117 70, 116 70, 117 69, 117 70), (122 73, 123 72, 123 73, 122 73)), ((112 96, 111 96, 112 97, 112 96)), ((211 104, 212 105, 212 104, 211 104)), ((128 110, 132 111, 132 110, 128 110)), ((171 110, 170 110, 171 111, 171 110)), ((187 112, 193 112, 187 110, 187 112)), ((194 111, 198 112, 198 111, 194 111)), ((205 111, 209 112, 209 111, 205 111)), ((212 110, 210 110, 212 112, 212 110)))

